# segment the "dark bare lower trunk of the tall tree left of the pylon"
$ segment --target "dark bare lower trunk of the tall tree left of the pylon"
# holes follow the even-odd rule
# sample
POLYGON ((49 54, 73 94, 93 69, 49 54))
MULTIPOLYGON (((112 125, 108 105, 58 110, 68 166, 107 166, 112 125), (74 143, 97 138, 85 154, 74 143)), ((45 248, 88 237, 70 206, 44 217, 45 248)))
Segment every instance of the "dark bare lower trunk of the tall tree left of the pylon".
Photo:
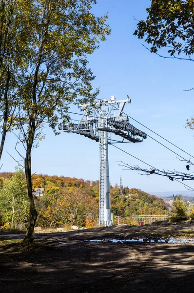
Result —
MULTIPOLYGON (((30 127, 30 131, 32 131, 32 128, 30 127)), ((38 213, 35 209, 34 204, 34 198, 32 195, 32 175, 31 175, 31 150, 32 150, 32 143, 33 143, 33 134, 31 138, 29 139, 29 142, 27 143, 26 147, 26 157, 25 157, 25 175, 26 175, 26 183, 28 188, 28 198, 30 202, 30 215, 29 215, 29 222, 28 227, 26 231, 26 235, 24 238, 24 243, 30 243, 34 241, 34 227, 36 224, 38 213)))

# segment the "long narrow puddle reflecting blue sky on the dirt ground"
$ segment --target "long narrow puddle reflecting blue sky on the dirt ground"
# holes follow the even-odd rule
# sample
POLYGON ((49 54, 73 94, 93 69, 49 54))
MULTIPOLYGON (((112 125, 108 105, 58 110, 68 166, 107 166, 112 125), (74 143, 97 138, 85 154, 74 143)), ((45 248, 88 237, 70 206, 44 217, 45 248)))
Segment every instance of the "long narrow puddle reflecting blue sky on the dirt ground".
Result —
POLYGON ((149 243, 194 243, 194 239, 191 238, 138 238, 138 239, 95 239, 84 240, 88 242, 110 242, 110 243, 124 243, 124 242, 149 242, 149 243))

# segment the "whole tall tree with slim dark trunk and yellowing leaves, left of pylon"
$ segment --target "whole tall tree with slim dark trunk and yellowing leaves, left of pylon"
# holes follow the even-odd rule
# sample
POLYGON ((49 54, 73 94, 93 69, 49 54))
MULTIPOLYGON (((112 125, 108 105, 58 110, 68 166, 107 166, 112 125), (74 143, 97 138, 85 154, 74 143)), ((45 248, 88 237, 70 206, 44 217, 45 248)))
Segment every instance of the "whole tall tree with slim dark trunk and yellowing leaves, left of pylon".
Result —
POLYGON ((25 174, 30 201, 30 219, 24 241, 34 240, 37 219, 32 195, 31 151, 44 137, 45 122, 54 130, 59 120, 68 119, 70 103, 93 101, 94 75, 87 55, 98 48, 110 33, 107 16, 91 13, 96 0, 36 0, 29 14, 31 35, 28 52, 17 80, 20 130, 19 141, 25 147, 25 174))

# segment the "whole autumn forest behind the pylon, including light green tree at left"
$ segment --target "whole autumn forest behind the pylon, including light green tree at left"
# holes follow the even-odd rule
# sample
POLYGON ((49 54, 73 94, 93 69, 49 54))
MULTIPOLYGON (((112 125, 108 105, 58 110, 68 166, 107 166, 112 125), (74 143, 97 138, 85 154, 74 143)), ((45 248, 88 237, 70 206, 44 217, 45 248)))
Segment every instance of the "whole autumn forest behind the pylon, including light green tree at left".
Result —
MULTIPOLYGON (((64 176, 34 174, 33 188, 44 188, 44 196, 34 197, 38 219, 36 227, 66 228, 76 225, 91 228, 97 224, 99 181, 64 176)), ((140 189, 111 186, 112 212, 119 216, 167 214, 167 205, 140 189)), ((4 230, 25 230, 29 203, 22 170, 0 173, 0 226, 4 230)))

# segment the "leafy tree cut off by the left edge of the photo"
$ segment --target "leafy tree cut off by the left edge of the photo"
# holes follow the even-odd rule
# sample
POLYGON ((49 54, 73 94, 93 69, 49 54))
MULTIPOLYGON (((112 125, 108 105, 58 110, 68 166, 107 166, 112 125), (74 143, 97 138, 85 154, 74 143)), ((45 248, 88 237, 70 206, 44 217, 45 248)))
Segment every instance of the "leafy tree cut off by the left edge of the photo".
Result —
POLYGON ((29 6, 28 0, 0 1, 0 159, 6 133, 17 115, 16 76, 30 36, 26 21, 29 6))

